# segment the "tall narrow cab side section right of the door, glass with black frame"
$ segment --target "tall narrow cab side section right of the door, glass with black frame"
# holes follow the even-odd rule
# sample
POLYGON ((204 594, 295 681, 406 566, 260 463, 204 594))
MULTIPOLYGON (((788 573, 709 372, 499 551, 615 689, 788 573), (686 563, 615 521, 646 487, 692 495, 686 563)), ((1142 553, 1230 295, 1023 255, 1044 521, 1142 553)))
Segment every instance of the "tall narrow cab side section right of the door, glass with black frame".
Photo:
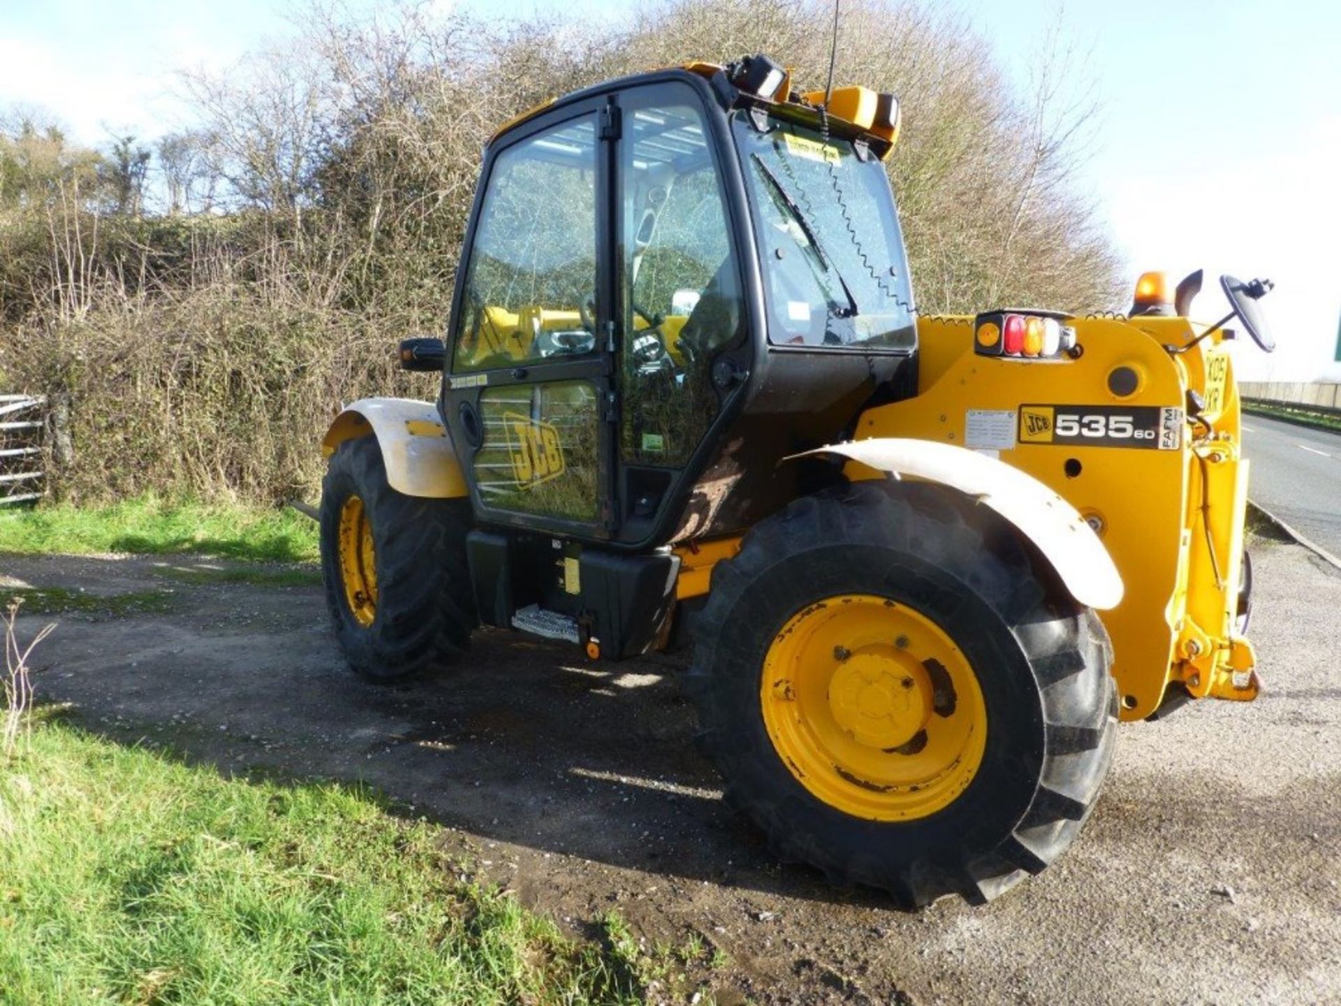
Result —
POLYGON ((739 390, 735 365, 720 364, 744 338, 746 311, 720 111, 692 79, 630 87, 618 102, 617 498, 621 541, 642 542, 679 518, 739 390))

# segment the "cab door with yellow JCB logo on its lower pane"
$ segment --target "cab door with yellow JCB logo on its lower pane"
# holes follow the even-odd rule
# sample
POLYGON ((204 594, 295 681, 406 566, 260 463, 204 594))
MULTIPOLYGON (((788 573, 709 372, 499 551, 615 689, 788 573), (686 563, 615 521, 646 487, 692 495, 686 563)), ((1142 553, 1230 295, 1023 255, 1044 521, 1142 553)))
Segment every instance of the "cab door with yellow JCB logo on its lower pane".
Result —
POLYGON ((485 520, 594 538, 613 530, 614 118, 606 99, 569 106, 487 160, 443 402, 485 520))

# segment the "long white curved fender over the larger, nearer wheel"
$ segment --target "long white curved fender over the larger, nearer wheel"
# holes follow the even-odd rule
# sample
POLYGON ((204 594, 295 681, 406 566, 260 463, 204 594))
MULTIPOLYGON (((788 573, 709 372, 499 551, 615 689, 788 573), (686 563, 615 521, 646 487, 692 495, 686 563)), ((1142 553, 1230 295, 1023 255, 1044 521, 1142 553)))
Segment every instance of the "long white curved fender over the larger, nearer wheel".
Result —
POLYGON ((1019 528, 1082 605, 1109 609, 1122 600, 1122 577, 1094 530, 1075 507, 1019 468, 963 447, 905 437, 830 444, 794 456, 818 453, 842 455, 894 478, 911 475, 956 488, 1019 528))

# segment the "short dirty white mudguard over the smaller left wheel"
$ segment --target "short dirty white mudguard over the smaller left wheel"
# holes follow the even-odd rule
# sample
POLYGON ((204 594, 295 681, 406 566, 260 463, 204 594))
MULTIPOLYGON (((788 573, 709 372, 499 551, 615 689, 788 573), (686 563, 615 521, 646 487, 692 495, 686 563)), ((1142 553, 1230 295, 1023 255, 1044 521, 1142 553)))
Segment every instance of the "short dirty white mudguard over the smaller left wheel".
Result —
POLYGON ((459 499, 469 495, 452 439, 433 402, 413 398, 359 398, 335 417, 322 453, 345 440, 374 433, 386 482, 406 496, 459 499))

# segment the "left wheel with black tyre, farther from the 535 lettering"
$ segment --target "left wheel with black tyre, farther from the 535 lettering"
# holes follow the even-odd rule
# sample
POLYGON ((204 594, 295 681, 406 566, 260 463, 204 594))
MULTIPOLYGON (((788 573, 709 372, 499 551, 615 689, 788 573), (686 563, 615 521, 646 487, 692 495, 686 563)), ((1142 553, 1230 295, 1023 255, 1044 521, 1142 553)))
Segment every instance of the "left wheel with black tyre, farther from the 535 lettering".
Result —
POLYGON ((476 625, 465 500, 405 496, 375 437, 346 440, 322 482, 322 579, 350 667, 393 681, 452 661, 476 625))

